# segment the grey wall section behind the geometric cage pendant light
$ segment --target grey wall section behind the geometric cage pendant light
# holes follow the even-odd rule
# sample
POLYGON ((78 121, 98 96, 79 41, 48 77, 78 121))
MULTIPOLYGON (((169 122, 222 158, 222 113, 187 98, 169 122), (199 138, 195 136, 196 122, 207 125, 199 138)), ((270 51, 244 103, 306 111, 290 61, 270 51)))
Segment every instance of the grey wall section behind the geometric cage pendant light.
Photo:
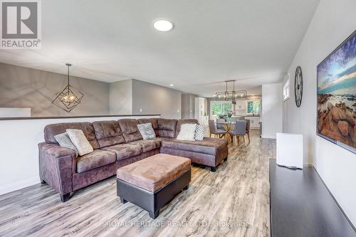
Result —
POLYGON ((109 114, 109 83, 70 77, 70 85, 85 94, 70 113, 52 104, 66 85, 66 75, 0 63, 0 107, 31 108, 33 117, 109 114))

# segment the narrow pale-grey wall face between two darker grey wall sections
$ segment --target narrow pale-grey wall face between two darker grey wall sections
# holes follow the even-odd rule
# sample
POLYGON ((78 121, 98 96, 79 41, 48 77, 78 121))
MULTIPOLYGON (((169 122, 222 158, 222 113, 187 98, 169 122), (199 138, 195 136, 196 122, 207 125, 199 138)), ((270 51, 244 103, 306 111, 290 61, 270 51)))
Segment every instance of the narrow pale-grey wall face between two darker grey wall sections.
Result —
POLYGON ((110 83, 110 115, 132 114, 132 79, 110 83))

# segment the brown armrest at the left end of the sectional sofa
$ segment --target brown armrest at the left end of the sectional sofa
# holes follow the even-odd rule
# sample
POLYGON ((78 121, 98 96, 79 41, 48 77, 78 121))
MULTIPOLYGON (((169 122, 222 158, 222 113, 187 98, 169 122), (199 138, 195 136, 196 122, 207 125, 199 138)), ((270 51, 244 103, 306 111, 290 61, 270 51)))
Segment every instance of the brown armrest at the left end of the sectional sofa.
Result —
POLYGON ((41 181, 46 181, 59 194, 69 194, 73 190, 73 149, 46 142, 38 144, 38 163, 41 181))

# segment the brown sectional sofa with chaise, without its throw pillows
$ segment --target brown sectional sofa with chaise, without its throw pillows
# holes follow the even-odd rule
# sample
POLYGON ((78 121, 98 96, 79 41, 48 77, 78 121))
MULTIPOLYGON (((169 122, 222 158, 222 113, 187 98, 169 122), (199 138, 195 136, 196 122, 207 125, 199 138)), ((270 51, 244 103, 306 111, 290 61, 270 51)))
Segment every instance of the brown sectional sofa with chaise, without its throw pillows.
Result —
POLYGON ((190 158, 214 172, 227 159, 226 140, 204 137, 203 141, 179 141, 175 137, 184 123, 197 123, 197 120, 152 118, 47 125, 45 142, 38 144, 41 182, 50 184, 61 200, 67 201, 70 192, 115 175, 119 167, 158 153, 190 158), (137 124, 146 122, 152 123, 157 138, 142 139, 137 124), (67 129, 83 130, 94 152, 75 158, 72 149, 60 147, 54 136, 67 129))

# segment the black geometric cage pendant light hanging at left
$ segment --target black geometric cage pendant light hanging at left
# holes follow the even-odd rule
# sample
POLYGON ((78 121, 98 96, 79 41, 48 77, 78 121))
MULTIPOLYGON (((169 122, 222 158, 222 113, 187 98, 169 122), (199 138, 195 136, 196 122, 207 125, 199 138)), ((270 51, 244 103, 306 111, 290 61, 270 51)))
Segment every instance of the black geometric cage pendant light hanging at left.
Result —
POLYGON ((64 88, 64 90, 56 94, 57 97, 52 101, 52 103, 60 107, 62 110, 70 112, 80 104, 84 94, 69 85, 69 67, 71 64, 66 63, 66 65, 68 66, 68 85, 64 88))

